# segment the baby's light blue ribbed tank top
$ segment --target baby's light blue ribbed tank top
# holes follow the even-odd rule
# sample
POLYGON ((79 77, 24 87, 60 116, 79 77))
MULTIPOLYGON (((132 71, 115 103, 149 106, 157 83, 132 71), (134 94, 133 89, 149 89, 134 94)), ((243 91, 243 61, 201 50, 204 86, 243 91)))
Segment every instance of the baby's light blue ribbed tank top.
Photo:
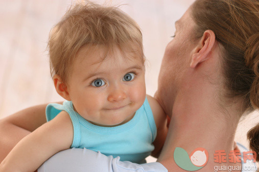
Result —
POLYGON ((60 111, 66 111, 73 123, 74 138, 71 148, 87 148, 121 161, 144 163, 154 150, 152 142, 156 137, 156 125, 153 113, 146 98, 144 104, 127 123, 115 127, 102 127, 89 123, 78 114, 71 101, 61 104, 49 104, 46 107, 46 119, 54 119, 60 111))

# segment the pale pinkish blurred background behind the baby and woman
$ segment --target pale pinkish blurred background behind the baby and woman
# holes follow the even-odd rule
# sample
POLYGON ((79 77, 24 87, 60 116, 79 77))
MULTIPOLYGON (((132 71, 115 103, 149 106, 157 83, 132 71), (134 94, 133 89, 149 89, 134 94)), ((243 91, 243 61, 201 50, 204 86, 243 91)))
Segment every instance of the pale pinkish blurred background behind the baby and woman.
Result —
MULTIPOLYGON (((100 4, 104 0, 94 1, 100 4)), ((106 1, 107 2, 107 1, 106 1)), ((113 0, 139 24, 147 58, 147 94, 154 95, 164 49, 174 35, 174 22, 194 0, 113 0)), ((0 119, 29 106, 62 101, 49 70, 49 32, 72 0, 0 1, 0 119)), ((244 117, 236 141, 248 147, 247 131, 259 113, 244 117)), ((152 161, 152 160, 150 160, 152 161)))

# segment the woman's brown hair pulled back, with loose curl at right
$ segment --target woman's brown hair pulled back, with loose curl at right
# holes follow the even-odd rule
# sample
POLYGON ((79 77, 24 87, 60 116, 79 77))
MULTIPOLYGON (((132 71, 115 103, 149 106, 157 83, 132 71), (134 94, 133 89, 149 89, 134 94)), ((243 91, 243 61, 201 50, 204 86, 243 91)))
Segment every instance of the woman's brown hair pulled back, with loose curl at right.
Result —
MULTIPOLYGON (((259 109, 259 2, 258 0, 197 0, 192 6, 196 38, 206 30, 224 47, 223 75, 226 98, 239 98, 242 113, 259 109)), ((259 125, 248 137, 258 155, 259 125)), ((258 159, 257 159, 258 160, 258 159)))

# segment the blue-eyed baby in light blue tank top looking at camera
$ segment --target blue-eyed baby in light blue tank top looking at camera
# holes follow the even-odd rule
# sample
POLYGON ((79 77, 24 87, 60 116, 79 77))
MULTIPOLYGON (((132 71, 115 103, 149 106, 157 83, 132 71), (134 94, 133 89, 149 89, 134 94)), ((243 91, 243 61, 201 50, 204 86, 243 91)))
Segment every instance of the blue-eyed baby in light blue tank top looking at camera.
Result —
POLYGON ((146 95, 142 33, 116 7, 93 3, 70 8, 49 40, 57 93, 47 123, 23 138, 0 171, 34 171, 69 148, 87 148, 121 160, 157 156, 167 135, 166 115, 146 95))

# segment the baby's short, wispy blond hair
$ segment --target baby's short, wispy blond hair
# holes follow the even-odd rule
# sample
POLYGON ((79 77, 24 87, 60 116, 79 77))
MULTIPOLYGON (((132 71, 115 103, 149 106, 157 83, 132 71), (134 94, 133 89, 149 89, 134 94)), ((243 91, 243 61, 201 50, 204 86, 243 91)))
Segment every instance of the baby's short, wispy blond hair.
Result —
POLYGON ((137 51, 143 64, 145 62, 140 28, 119 7, 86 1, 77 3, 66 11, 49 36, 52 77, 57 74, 66 83, 76 53, 84 45, 104 45, 107 52, 114 47, 122 52, 130 49, 137 51))

